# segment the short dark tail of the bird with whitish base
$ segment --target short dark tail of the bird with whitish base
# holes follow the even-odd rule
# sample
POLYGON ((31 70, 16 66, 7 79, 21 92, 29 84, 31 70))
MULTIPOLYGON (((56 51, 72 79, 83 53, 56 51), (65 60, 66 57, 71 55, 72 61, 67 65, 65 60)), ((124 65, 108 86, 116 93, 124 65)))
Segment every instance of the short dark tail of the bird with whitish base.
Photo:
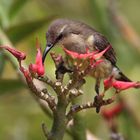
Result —
POLYGON ((124 82, 132 82, 132 80, 130 80, 127 76, 125 76, 117 66, 113 68, 113 73, 115 75, 116 80, 124 82))

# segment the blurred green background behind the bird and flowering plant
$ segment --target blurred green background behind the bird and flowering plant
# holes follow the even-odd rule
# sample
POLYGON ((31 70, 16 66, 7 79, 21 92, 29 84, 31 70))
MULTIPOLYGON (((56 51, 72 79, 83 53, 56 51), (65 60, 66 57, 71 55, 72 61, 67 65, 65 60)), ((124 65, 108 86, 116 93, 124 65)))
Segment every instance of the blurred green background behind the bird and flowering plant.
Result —
MULTIPOLYGON (((36 37, 39 38, 42 49, 45 48, 46 31, 53 19, 80 20, 108 38, 116 51, 120 69, 130 79, 139 81, 139 5, 139 0, 0 0, 0 44, 10 42, 24 51, 28 65, 35 61, 36 37)), ((53 51, 62 50, 54 48, 53 51)), ((53 61, 48 56, 46 74, 54 79, 54 71, 53 61)), ((93 98, 94 79, 86 80, 83 87, 84 100, 80 99, 82 102, 93 98)), ((106 96, 111 93, 112 91, 106 96)), ((123 91, 121 98, 130 111, 124 111, 116 118, 119 132, 128 140, 139 140, 140 90, 123 91)), ((110 106, 112 105, 106 108, 110 106)), ((100 140, 109 139, 109 128, 100 114, 96 114, 93 109, 80 114, 84 118, 85 127, 93 135, 100 140)), ((45 139, 41 129, 42 122, 48 128, 51 127, 51 119, 41 110, 10 61, 0 52, 0 139, 45 139)), ((72 137, 66 133, 64 140, 72 140, 72 137)))

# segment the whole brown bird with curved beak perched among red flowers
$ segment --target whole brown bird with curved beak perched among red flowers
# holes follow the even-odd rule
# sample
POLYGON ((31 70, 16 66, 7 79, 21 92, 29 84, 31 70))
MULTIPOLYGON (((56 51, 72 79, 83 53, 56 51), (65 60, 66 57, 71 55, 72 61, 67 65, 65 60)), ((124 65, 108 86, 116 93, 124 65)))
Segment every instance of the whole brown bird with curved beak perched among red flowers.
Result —
MULTIPOLYGON (((57 19, 54 20, 47 31, 47 46, 43 53, 43 63, 49 50, 57 43, 63 45, 67 50, 77 52, 79 54, 86 53, 88 47, 90 52, 103 51, 111 44, 105 36, 97 32, 92 27, 80 21, 57 19)), ((98 64, 92 72, 92 76, 96 79, 95 91, 99 94, 100 81, 111 75, 120 81, 131 81, 116 66, 116 56, 112 46, 103 55, 103 62, 98 64)))

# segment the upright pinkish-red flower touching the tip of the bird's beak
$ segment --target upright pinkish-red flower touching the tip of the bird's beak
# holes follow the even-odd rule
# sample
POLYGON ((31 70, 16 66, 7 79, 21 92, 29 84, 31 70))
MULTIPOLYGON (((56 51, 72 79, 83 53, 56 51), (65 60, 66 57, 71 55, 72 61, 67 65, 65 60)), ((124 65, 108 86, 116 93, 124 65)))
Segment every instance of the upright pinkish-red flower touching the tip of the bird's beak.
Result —
POLYGON ((32 73, 37 73, 39 76, 41 76, 44 75, 45 69, 42 63, 42 53, 38 40, 36 42, 36 47, 37 47, 36 61, 35 64, 29 65, 29 71, 32 73))

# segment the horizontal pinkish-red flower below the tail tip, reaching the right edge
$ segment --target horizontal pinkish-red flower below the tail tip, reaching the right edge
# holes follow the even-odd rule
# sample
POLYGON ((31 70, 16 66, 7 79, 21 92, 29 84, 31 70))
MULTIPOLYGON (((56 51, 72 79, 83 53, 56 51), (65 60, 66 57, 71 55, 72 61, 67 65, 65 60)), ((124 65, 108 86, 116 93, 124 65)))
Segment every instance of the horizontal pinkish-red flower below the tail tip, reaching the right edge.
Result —
POLYGON ((139 88, 140 82, 123 82, 123 81, 114 81, 112 86, 117 90, 125 90, 129 88, 139 88))

